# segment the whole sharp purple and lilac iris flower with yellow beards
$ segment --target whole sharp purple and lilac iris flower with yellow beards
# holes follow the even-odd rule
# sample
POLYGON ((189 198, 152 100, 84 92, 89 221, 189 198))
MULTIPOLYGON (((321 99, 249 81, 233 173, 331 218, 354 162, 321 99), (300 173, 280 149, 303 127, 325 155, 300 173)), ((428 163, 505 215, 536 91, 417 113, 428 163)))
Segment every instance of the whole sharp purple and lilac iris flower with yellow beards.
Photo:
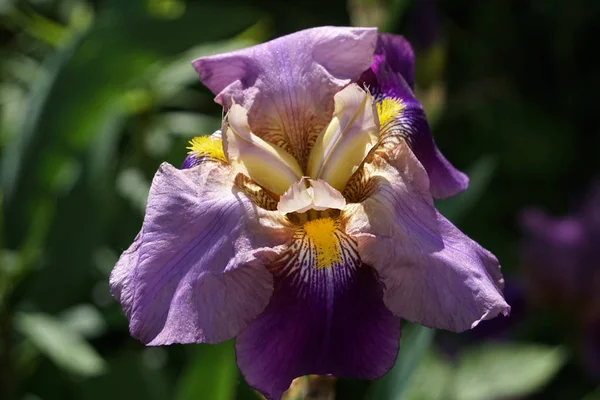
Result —
POLYGON ((193 66, 226 114, 160 166, 112 272, 134 337, 236 337, 277 399, 301 375, 380 378, 400 318, 463 331, 509 312, 496 258, 434 208, 468 180, 433 142, 404 38, 320 27, 193 66))

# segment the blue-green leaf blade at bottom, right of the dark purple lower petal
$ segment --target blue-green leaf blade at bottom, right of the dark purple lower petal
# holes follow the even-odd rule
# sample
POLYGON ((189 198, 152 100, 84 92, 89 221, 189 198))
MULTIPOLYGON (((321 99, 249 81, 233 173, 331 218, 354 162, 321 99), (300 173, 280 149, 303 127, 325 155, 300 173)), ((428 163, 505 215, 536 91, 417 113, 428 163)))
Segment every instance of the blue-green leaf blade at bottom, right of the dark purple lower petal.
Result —
POLYGON ((411 376, 431 345, 434 334, 435 330, 420 325, 404 328, 396 365, 386 376, 373 384, 368 398, 377 400, 401 398, 411 376))

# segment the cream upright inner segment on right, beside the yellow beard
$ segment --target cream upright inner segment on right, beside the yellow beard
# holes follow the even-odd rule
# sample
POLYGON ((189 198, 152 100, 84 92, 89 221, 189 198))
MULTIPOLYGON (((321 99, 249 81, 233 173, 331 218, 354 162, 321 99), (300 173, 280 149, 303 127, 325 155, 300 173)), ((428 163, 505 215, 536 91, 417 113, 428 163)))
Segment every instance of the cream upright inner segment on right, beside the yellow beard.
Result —
POLYGON ((377 143, 379 121, 372 96, 352 84, 334 97, 335 112, 308 160, 308 175, 342 191, 377 143))

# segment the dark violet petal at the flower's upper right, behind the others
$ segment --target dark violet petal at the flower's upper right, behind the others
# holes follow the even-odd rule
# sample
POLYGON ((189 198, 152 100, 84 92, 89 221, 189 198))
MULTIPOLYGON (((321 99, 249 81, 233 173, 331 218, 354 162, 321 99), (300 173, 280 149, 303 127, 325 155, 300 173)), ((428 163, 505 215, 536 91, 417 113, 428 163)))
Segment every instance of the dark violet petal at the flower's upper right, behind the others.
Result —
POLYGON ((406 39, 379 35, 373 64, 360 82, 379 100, 402 101, 404 108, 391 125, 390 132, 403 137, 425 167, 433 197, 451 197, 465 190, 469 178, 454 168, 435 145, 423 106, 413 93, 414 54, 406 39))

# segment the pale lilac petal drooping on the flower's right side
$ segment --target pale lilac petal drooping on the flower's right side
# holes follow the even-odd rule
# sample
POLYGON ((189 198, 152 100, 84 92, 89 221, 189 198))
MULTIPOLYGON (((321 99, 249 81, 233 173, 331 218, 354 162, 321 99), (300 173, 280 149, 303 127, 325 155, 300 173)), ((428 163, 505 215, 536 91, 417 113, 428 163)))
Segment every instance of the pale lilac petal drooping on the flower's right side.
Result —
POLYGON ((372 194, 344 211, 363 262, 384 283, 387 307, 451 331, 507 315, 497 259, 435 210, 427 174, 406 144, 387 156, 365 165, 372 194))

